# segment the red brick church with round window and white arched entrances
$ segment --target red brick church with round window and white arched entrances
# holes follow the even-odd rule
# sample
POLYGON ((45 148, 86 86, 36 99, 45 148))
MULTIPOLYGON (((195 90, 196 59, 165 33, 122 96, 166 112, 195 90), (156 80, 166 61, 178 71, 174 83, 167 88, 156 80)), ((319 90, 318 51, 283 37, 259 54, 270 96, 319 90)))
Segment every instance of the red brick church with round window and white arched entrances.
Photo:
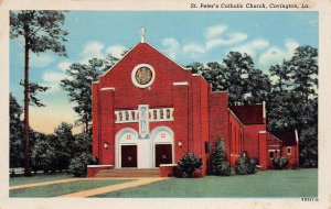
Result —
MULTIPOLYGON (((212 91, 192 74, 141 41, 93 84, 93 155, 107 168, 158 168, 188 152, 203 160, 202 175, 218 136, 234 166, 245 153, 260 169, 280 153, 298 165, 298 135, 266 131, 265 103, 228 106, 227 91, 212 91)), ((92 169, 92 168, 90 168, 92 169)), ((90 174, 89 174, 90 175, 90 174)))

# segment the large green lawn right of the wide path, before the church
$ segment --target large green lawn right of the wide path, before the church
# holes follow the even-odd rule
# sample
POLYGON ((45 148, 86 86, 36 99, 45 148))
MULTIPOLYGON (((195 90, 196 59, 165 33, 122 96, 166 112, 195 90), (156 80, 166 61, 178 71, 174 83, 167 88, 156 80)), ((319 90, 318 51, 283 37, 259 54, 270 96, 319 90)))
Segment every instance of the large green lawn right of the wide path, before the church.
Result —
POLYGON ((318 169, 267 170, 246 176, 171 178, 95 197, 317 197, 318 169))

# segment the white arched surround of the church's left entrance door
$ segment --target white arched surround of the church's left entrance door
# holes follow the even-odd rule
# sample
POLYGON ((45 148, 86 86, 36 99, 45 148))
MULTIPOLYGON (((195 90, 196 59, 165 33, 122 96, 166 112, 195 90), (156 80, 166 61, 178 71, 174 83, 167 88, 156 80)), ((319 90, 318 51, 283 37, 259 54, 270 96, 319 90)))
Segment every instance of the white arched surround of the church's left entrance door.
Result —
MULTIPOLYGON (((121 168, 122 167, 122 161, 121 161, 121 151, 124 147, 134 147, 138 148, 138 133, 136 130, 131 128, 125 128, 120 130, 115 138, 115 167, 121 168)), ((138 155, 139 153, 136 150, 136 160, 134 157, 134 161, 137 161, 136 164, 138 164, 138 155)))

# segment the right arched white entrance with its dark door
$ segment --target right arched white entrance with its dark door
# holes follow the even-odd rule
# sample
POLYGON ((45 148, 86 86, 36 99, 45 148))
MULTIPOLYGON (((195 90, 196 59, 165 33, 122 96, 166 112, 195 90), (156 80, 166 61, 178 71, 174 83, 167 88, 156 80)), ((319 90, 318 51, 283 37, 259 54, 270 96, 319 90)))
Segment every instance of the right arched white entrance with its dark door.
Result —
POLYGON ((174 161, 173 131, 168 127, 158 127, 151 132, 152 167, 172 164, 174 161))

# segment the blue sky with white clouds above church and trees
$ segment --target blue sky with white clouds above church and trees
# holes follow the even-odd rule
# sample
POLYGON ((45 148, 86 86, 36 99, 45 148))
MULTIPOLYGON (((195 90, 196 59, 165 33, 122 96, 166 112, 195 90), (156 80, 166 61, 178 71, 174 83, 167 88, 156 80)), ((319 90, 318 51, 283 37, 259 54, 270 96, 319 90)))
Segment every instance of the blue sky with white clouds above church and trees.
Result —
MULTIPOLYGON (((239 51, 266 70, 291 57, 299 45, 319 43, 318 12, 70 11, 65 15, 68 57, 31 55, 30 79, 51 87, 39 96, 46 107, 31 108, 31 124, 42 132, 75 120, 73 105, 58 86, 65 68, 107 54, 119 57, 140 41, 141 26, 147 29, 147 42, 181 65, 221 62, 229 51, 239 51)), ((21 79, 22 42, 10 41, 10 90, 22 103, 21 79)))

